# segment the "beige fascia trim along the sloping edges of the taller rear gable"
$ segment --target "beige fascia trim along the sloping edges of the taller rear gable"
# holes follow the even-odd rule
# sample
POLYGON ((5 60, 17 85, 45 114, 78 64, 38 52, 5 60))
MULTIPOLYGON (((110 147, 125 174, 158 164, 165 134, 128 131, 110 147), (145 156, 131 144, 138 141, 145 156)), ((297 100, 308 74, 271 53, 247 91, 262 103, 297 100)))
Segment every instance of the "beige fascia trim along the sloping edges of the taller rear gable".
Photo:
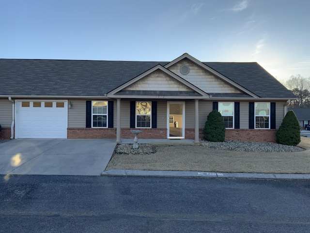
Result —
POLYGON ((229 83, 231 85, 233 85, 234 87, 236 87, 237 89, 247 93, 250 96, 256 97, 258 98, 259 96, 255 95, 254 93, 250 92, 248 89, 244 88, 243 86, 234 83, 232 80, 228 79, 227 77, 225 77, 224 75, 218 73, 216 70, 212 69, 211 67, 208 67, 206 65, 204 65, 201 61, 197 60, 196 58, 192 57, 191 55, 189 55, 188 53, 184 53, 183 55, 181 55, 180 57, 178 57, 177 59, 173 60, 172 62, 168 63, 167 65, 165 65, 165 68, 171 67, 172 65, 180 62, 181 60, 183 60, 184 58, 187 58, 188 60, 190 60, 191 62, 195 63, 196 65, 208 70, 210 73, 216 75, 217 77, 219 77, 220 79, 224 80, 226 83, 229 83))

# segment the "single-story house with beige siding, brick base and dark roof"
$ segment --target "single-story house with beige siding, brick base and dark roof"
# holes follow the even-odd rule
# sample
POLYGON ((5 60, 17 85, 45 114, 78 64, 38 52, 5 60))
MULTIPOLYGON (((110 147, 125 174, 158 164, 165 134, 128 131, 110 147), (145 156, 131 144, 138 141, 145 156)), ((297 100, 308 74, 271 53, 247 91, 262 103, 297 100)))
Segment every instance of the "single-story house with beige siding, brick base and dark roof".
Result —
POLYGON ((255 62, 0 59, 2 138, 202 138, 217 109, 226 140, 275 141, 295 100, 255 62))

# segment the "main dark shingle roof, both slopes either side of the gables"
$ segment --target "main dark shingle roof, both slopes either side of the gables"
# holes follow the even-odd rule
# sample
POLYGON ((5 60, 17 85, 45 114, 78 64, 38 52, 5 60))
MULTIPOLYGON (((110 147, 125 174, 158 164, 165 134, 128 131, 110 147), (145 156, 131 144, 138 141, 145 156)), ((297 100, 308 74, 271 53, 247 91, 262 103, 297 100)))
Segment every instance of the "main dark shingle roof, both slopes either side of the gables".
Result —
MULTIPOLYGON (((169 62, 0 59, 0 96, 104 96, 148 69, 169 62)), ((263 98, 294 98, 257 63, 205 65, 263 98)))

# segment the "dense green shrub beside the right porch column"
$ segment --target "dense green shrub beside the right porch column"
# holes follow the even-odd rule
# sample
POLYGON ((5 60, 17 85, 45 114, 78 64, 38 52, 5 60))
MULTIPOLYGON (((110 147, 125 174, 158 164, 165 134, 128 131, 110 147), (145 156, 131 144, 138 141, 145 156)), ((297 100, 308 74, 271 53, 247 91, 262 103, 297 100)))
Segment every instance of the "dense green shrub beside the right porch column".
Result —
POLYGON ((203 128, 203 139, 210 142, 223 142, 225 140, 225 125, 222 115, 213 110, 209 113, 203 128))

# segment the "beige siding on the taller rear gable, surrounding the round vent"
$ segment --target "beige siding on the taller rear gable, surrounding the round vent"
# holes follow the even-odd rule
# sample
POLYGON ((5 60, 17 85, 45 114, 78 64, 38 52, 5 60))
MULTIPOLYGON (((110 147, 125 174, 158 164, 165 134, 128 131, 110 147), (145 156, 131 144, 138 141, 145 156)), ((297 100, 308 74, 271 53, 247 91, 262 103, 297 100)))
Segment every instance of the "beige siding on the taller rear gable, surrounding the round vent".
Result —
POLYGON ((187 59, 183 59, 168 69, 189 83, 199 87, 206 93, 241 93, 240 90, 236 89, 231 84, 222 81, 218 77, 214 76, 202 67, 195 65, 187 59), (186 65, 190 68, 190 71, 187 75, 183 75, 180 72, 180 67, 183 65, 186 65))

